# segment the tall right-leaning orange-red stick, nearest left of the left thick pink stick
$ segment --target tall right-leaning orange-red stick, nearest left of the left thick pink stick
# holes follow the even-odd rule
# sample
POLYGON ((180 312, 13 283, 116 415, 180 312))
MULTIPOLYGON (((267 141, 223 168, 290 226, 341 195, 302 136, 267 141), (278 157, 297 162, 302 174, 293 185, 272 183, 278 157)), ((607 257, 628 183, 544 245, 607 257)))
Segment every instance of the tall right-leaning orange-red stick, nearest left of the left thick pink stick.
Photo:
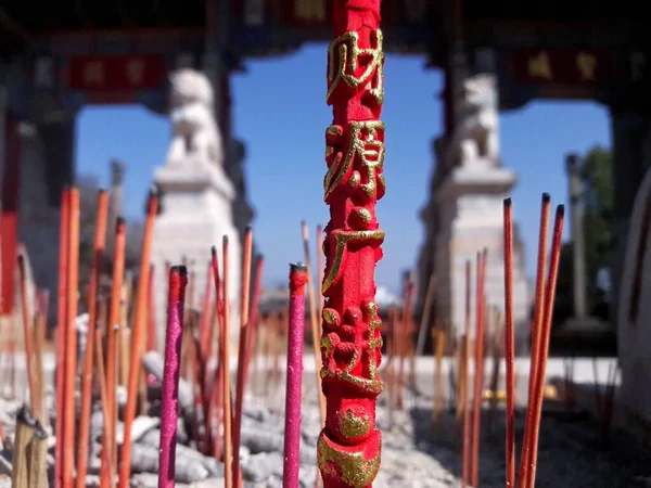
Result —
POLYGON ((138 381, 140 380, 140 364, 144 348, 144 333, 146 328, 146 308, 149 298, 149 273, 151 270, 152 240, 154 235, 154 221, 158 214, 158 197, 151 193, 146 206, 144 222, 144 236, 142 237, 142 253, 140 254, 140 274, 138 277, 138 296, 133 329, 131 334, 131 360, 129 363, 129 384, 127 386, 127 406, 125 409, 125 435, 122 448, 119 467, 119 487, 127 488, 131 474, 131 425, 136 418, 138 400, 138 381))

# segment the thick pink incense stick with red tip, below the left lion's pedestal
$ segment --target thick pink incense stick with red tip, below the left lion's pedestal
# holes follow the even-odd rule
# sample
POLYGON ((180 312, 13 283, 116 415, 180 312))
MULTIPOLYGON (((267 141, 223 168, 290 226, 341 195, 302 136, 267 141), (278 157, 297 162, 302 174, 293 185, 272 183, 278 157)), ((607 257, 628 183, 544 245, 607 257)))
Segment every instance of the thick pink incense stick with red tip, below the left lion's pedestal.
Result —
POLYGON ((167 295, 167 332, 165 335, 165 369, 163 370, 163 408, 161 412, 161 450, 158 454, 158 488, 174 488, 176 429, 179 410, 179 370, 183 308, 188 270, 175 266, 169 270, 167 295))

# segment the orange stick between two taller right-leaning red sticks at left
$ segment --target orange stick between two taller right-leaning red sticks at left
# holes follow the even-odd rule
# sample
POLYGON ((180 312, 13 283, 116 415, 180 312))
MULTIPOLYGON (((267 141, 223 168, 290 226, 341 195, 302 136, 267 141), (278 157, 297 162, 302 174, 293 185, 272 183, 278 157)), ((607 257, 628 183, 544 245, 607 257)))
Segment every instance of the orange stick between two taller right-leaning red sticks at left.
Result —
POLYGON ((102 473, 100 476, 100 486, 105 488, 113 485, 113 479, 108 480, 108 467, 115 466, 115 420, 117 416, 117 406, 115 401, 116 378, 116 335, 119 330, 120 319, 120 297, 125 273, 125 247, 126 247, 126 226, 123 218, 117 219, 115 228, 115 245, 113 258, 113 284, 111 287, 111 306, 108 309, 108 321, 106 322, 106 404, 108 424, 108 437, 102 445, 102 473))

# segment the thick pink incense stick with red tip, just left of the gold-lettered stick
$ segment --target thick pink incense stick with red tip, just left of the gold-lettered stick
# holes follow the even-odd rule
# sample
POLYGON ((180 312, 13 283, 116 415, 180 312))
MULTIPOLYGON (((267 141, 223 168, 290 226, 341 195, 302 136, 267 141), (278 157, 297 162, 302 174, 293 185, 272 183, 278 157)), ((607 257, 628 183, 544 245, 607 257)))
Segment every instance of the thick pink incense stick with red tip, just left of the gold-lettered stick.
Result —
POLYGON ((303 384, 303 336, 305 331, 305 283, 307 268, 290 265, 290 331, 288 334, 288 386, 285 395, 283 488, 298 487, 301 458, 301 387, 303 384))

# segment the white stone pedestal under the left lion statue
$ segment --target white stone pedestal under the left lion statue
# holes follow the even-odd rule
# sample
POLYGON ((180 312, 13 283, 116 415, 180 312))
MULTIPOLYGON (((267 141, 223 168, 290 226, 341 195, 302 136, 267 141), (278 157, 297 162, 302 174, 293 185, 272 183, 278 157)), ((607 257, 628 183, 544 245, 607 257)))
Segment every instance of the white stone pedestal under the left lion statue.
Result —
MULTIPOLYGON (((157 168, 154 181, 162 192, 162 213, 156 219, 152 262, 156 273, 157 348, 164 350, 167 307, 165 262, 188 262, 195 273, 194 307, 201 306, 206 285, 210 247, 216 246, 219 272, 224 275, 222 240, 229 240, 229 297, 231 347, 237 350, 240 330, 241 243, 233 226, 233 187, 220 166, 207 164, 168 165, 157 168)), ((214 296, 214 286, 210 288, 214 296)), ((187 295, 187 300, 189 299, 187 295)), ((214 298, 213 298, 214 303, 214 298)))

